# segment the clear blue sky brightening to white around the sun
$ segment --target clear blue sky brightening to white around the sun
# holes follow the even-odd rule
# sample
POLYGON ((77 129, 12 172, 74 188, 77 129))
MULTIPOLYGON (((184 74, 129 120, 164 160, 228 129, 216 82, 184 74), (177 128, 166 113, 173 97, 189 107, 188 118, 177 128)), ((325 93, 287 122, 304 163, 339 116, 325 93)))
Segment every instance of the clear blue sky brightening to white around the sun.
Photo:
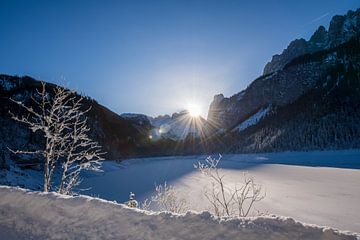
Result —
POLYGON ((0 72, 95 98, 117 113, 173 113, 258 77, 360 0, 0 0, 0 72))

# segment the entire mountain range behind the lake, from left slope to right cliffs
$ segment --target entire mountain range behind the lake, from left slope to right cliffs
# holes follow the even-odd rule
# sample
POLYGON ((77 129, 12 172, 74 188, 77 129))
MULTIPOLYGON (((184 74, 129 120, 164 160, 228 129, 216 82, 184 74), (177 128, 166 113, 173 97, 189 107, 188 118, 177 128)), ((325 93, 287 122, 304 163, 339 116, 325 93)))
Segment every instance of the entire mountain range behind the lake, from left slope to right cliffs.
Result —
MULTIPOLYGON (((107 159, 198 154, 360 147, 360 10, 332 18, 309 40, 297 39, 266 64, 264 74, 231 97, 218 94, 208 119, 186 111, 149 117, 118 114, 85 97, 91 137, 107 159)), ((23 110, 9 98, 31 104, 41 86, 30 77, 0 75, 0 168, 11 154, 37 149, 42 136, 11 119, 23 110)), ((54 84, 47 84, 48 90, 54 84)), ((76 94, 77 97, 80 95, 76 94)))

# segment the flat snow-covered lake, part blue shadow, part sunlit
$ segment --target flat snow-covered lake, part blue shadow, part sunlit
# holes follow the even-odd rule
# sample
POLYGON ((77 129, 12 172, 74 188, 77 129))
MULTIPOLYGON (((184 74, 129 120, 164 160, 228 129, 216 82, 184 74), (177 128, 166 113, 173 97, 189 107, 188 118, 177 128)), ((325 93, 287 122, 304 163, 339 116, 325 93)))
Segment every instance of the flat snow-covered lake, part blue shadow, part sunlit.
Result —
MULTIPOLYGON (((125 202, 129 192, 138 200, 149 197, 154 185, 173 185, 194 210, 204 210, 203 190, 208 178, 193 164, 206 156, 106 161, 103 173, 87 174, 83 192, 125 202)), ((266 188, 258 210, 297 220, 360 232, 360 151, 225 155, 220 163, 229 186, 241 182, 243 172, 266 188)))

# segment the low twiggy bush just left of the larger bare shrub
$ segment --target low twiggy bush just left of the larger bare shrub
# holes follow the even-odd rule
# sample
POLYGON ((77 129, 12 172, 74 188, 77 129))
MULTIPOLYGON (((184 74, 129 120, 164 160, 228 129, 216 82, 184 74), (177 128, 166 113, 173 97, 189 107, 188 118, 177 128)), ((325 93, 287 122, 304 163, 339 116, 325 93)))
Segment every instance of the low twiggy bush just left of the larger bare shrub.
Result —
POLYGON ((155 186, 155 195, 151 197, 160 211, 169 211, 174 213, 184 213, 189 209, 185 198, 179 197, 178 192, 171 185, 155 186))

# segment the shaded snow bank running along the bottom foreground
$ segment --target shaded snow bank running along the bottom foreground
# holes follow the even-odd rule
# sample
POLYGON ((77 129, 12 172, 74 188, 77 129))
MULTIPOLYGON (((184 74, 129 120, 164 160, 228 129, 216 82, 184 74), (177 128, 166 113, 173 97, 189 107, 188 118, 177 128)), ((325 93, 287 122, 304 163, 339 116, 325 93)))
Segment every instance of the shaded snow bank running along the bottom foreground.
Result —
POLYGON ((0 187, 1 239, 360 239, 291 218, 216 219, 130 209, 78 196, 0 187))

